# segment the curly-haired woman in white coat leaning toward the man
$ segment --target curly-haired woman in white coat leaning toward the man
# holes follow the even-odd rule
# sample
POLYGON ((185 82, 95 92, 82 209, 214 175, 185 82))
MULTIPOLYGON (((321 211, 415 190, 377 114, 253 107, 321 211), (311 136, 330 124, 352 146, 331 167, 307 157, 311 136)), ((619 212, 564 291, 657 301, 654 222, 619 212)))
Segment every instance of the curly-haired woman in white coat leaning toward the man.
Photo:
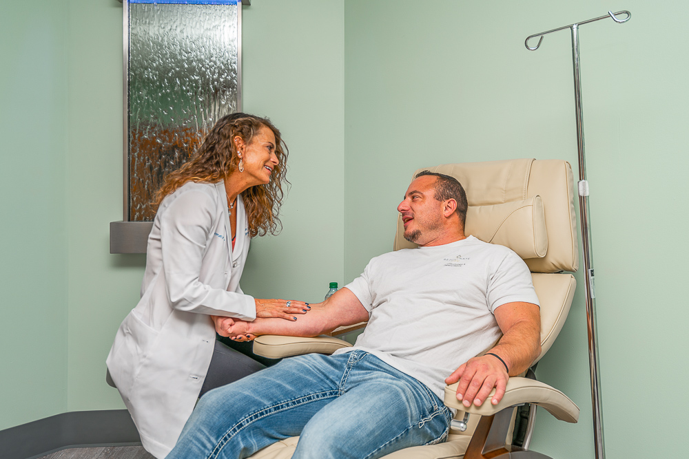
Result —
MULTIPOLYGON (((174 447, 206 379, 216 345, 213 316, 296 320, 309 308, 254 299, 239 287, 251 237, 279 226, 286 160, 280 131, 269 120, 232 114, 218 120, 158 191, 141 301, 107 356, 141 442, 157 458, 174 447)), ((251 367, 241 360, 248 357, 235 357, 237 367, 251 367)))

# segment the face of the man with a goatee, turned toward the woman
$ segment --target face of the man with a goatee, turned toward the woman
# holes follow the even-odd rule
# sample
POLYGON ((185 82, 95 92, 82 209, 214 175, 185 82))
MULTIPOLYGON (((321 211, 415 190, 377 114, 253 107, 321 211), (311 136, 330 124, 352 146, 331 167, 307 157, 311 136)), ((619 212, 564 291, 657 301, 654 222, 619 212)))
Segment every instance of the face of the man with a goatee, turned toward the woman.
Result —
POLYGON ((443 203, 435 199, 435 180, 432 175, 415 179, 397 206, 404 222, 404 239, 420 246, 432 242, 442 230, 443 203))

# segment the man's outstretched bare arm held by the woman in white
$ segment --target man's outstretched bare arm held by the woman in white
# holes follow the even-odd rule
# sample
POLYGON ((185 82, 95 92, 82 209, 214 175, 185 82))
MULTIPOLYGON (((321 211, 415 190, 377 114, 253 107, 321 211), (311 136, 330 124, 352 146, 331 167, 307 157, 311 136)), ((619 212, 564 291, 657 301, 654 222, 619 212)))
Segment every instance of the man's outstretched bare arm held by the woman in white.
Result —
POLYGON ((253 322, 245 322, 229 317, 214 318, 218 334, 233 337, 236 341, 247 341, 262 334, 316 337, 329 333, 341 325, 353 325, 367 320, 369 312, 347 288, 338 290, 322 303, 311 304, 311 310, 296 321, 256 319, 253 322))

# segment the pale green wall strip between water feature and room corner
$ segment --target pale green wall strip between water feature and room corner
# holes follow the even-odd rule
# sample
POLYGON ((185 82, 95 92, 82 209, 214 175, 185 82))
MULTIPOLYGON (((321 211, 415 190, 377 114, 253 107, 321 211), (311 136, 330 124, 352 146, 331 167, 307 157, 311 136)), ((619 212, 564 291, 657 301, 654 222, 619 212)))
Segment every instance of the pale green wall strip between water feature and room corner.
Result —
POLYGON ((244 109, 282 131, 292 186, 282 233, 251 242, 242 288, 322 301, 344 277, 345 9, 258 0, 243 15, 244 109))

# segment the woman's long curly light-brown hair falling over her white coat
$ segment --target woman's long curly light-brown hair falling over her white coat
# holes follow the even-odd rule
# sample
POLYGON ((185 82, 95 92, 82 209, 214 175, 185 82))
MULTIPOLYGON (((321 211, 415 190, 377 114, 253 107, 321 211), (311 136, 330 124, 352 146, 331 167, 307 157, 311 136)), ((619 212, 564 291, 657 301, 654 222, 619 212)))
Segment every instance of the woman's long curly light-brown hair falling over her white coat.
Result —
POLYGON ((267 233, 275 235, 282 229, 278 218, 282 205, 282 183, 289 184, 287 173, 287 145, 280 136, 280 131, 267 118, 260 118, 245 113, 234 113, 223 116, 203 139, 192 159, 180 169, 165 177, 163 186, 156 193, 155 202, 160 204, 165 196, 187 182, 216 183, 224 180, 239 165, 234 137, 240 136, 249 145, 262 127, 267 127, 275 136, 275 154, 279 163, 270 174, 270 182, 249 187, 242 193, 244 206, 249 222, 251 237, 267 233))

